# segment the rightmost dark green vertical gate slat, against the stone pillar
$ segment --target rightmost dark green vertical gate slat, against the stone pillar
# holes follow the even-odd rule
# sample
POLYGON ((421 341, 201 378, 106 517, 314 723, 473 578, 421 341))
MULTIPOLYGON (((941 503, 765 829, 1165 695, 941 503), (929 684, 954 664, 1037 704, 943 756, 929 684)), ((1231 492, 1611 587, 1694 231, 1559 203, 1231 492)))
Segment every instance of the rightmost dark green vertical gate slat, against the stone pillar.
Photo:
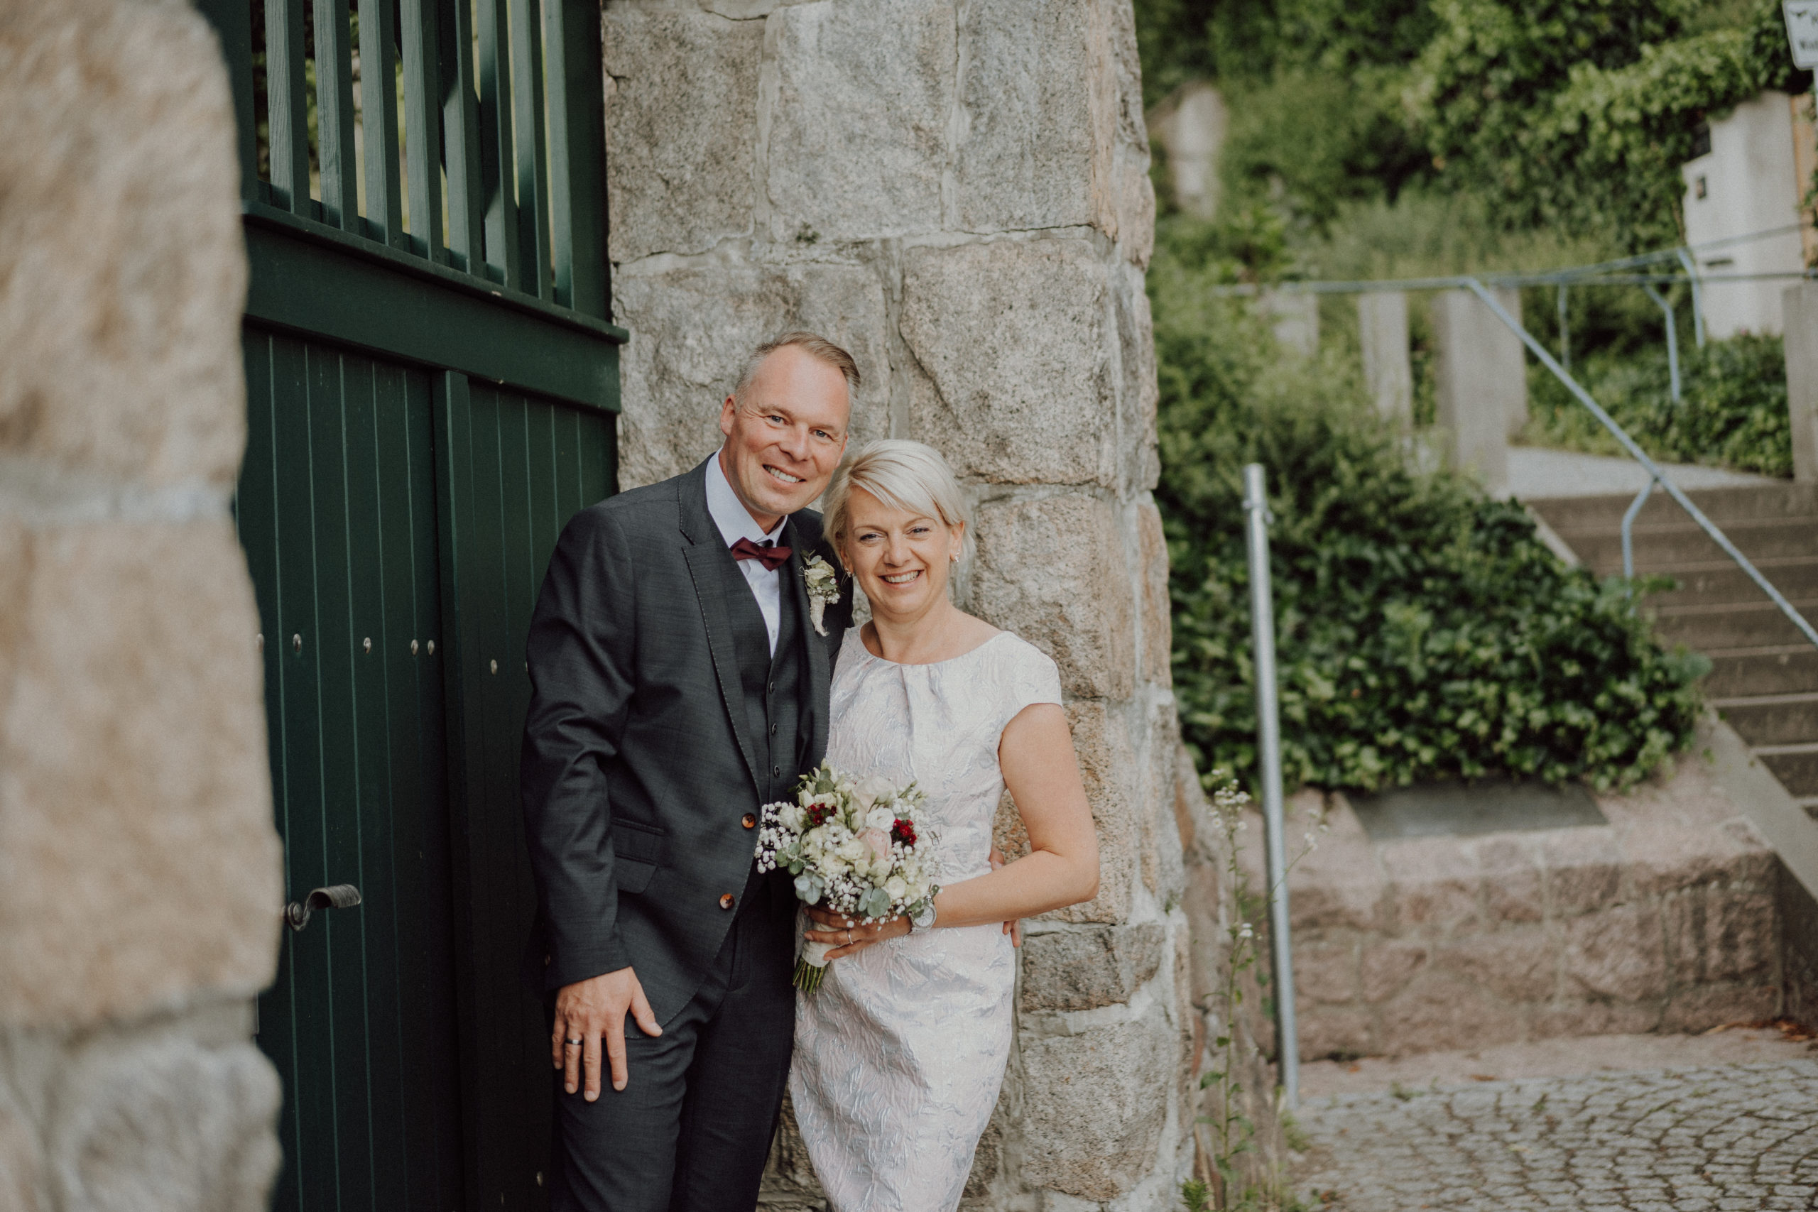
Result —
POLYGON ((554 300, 607 316, 605 100, 600 78, 600 5, 544 0, 549 31, 549 193, 554 300))

